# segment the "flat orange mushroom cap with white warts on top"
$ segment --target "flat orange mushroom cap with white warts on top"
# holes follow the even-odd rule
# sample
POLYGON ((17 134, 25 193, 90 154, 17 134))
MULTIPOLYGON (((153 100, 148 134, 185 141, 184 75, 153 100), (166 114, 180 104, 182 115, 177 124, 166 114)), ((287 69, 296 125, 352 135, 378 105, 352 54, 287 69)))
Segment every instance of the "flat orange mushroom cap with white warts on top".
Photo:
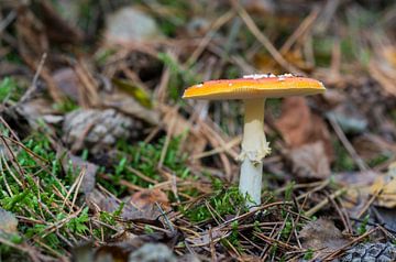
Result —
POLYGON ((183 98, 227 100, 308 96, 326 90, 323 84, 312 78, 292 74, 249 75, 237 79, 209 80, 187 88, 183 98))

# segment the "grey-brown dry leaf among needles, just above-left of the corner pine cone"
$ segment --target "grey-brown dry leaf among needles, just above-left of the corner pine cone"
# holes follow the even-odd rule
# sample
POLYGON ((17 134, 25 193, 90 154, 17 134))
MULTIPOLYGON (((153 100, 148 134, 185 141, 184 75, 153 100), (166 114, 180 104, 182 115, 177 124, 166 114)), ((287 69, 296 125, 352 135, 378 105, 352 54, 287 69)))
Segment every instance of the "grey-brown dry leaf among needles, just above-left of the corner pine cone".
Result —
POLYGON ((301 229, 299 237, 302 239, 302 248, 316 250, 317 255, 321 258, 349 242, 349 239, 341 233, 333 221, 324 218, 307 223, 301 229))

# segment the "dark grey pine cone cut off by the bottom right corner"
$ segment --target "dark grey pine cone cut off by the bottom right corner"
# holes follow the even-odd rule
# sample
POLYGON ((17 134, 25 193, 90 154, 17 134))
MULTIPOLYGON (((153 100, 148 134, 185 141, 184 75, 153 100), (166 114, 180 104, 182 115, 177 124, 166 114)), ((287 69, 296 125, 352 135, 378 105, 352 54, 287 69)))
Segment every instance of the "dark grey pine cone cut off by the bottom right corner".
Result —
POLYGON ((341 262, 392 262, 396 261, 396 245, 387 243, 358 244, 348 250, 341 262))

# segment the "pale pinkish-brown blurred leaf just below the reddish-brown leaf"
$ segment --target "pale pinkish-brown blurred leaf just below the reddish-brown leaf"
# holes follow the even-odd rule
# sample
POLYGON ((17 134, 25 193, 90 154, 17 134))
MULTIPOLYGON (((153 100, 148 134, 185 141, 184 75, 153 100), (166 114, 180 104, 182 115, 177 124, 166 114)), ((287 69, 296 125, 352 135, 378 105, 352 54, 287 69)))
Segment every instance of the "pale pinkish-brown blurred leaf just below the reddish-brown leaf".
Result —
POLYGON ((293 173, 301 178, 323 179, 330 176, 330 163, 321 141, 305 144, 287 152, 293 173))

